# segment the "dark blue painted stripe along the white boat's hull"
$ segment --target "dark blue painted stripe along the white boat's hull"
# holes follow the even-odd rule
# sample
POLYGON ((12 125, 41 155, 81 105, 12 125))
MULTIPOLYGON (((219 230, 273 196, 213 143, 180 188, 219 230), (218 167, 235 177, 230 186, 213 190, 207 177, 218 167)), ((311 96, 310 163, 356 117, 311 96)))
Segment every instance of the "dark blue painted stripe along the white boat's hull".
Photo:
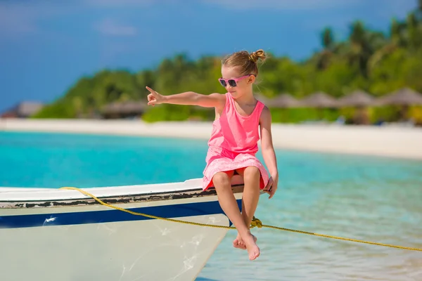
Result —
MULTIPOLYGON (((239 208, 242 201, 237 200, 239 208)), ((77 209, 79 207, 75 207, 77 209)), ((35 210, 35 209, 34 209, 35 210)), ((174 204, 155 207, 141 207, 129 209, 143 214, 160 216, 163 218, 177 218, 181 216, 201 216, 224 214, 218 201, 174 204)), ((19 209, 16 209, 19 211, 19 209)), ((1 213, 1 209, 0 209, 1 213)), ((106 211, 79 211, 72 213, 30 214, 0 216, 0 228, 32 228, 37 226, 68 226, 85 223, 110 223, 115 221, 143 221, 153 218, 135 216, 124 211, 108 209, 106 211)), ((230 222, 231 225, 231 222, 230 222)))

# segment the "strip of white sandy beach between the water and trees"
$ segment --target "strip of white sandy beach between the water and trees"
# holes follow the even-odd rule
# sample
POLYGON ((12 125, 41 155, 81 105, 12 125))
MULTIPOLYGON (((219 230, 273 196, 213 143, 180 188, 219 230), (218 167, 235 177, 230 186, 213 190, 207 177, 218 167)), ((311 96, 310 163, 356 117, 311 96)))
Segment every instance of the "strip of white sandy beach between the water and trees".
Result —
MULTIPOLYGON (((0 119, 1 131, 100 133, 206 140, 211 129, 211 122, 148 124, 139 120, 0 119)), ((421 128, 273 124, 272 131, 275 148, 422 159, 421 128)))

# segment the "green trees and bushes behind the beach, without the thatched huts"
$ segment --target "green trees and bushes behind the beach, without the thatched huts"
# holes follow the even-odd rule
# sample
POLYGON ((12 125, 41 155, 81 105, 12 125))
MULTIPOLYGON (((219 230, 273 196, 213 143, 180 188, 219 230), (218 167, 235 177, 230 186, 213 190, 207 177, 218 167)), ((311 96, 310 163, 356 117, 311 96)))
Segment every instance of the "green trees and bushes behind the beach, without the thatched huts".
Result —
MULTIPOLYGON (((336 41, 331 28, 326 27, 321 32, 321 45, 321 51, 303 62, 270 54, 260 67, 258 80, 262 82, 255 86, 255 91, 268 98, 281 93, 303 98, 316 91, 339 98, 357 89, 383 96, 402 87, 422 92, 422 0, 418 0, 418 7, 409 12, 406 20, 392 20, 388 34, 369 30, 363 22, 356 21, 345 41, 336 41)), ((109 103, 146 100, 147 85, 165 95, 183 91, 223 93, 217 81, 221 75, 220 60, 210 56, 190 60, 179 54, 162 60, 155 70, 137 73, 103 70, 93 77, 79 79, 65 96, 44 107, 34 118, 94 117, 109 103)), ((353 114, 347 108, 272 112, 274 122, 301 122, 321 116, 333 120, 339 115, 353 114)), ((410 114, 422 122, 421 107, 412 107, 410 114)), ((370 115, 373 122, 381 118, 392 120, 397 117, 397 108, 371 108, 370 115)), ((154 122, 189 117, 209 120, 213 116, 209 109, 160 105, 149 107, 142 118, 154 122)))

